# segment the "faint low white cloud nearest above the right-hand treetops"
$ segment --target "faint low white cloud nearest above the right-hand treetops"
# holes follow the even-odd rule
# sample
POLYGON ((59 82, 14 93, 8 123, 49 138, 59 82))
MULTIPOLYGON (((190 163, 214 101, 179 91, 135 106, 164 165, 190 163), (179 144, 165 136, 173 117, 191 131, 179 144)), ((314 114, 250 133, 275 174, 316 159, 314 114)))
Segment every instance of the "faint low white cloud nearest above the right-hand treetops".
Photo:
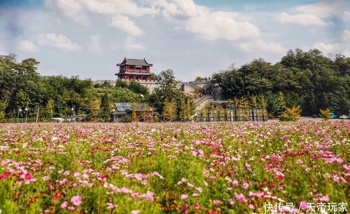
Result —
POLYGON ((244 51, 267 51, 283 54, 287 51, 285 47, 277 42, 265 42, 261 39, 254 40, 252 42, 241 42, 237 44, 244 51))

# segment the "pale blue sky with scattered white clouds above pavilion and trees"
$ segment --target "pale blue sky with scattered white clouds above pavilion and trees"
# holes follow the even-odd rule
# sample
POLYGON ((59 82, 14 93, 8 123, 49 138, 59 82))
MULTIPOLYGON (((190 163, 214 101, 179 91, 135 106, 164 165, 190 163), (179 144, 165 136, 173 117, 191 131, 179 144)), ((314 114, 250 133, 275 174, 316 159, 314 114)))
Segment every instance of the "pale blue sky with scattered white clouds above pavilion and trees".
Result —
POLYGON ((350 1, 0 0, 0 55, 45 76, 113 80, 126 57, 193 81, 295 48, 350 57, 350 1))

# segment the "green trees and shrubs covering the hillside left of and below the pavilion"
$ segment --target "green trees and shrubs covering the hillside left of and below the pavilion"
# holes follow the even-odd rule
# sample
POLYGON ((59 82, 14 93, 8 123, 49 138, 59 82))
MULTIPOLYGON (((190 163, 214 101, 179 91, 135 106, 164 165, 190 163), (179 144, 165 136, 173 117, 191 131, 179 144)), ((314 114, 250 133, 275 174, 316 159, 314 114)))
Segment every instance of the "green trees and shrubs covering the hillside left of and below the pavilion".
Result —
MULTIPOLYGON (((177 119, 185 118, 184 102, 192 105, 190 113, 194 114, 194 102, 177 90, 172 70, 162 71, 154 77, 162 80, 162 84, 151 95, 148 88, 137 81, 117 81, 113 87, 107 81, 93 85, 91 79, 81 80, 79 76, 40 76, 37 72, 39 64, 33 58, 19 63, 15 54, 0 55, 0 121, 25 117, 26 107, 29 121, 39 114, 42 121, 72 116, 72 107, 75 115, 84 115, 87 120, 109 121, 115 102, 149 102, 162 113, 165 100, 174 98, 179 101, 177 119)), ((187 109, 185 112, 189 114, 187 109)))

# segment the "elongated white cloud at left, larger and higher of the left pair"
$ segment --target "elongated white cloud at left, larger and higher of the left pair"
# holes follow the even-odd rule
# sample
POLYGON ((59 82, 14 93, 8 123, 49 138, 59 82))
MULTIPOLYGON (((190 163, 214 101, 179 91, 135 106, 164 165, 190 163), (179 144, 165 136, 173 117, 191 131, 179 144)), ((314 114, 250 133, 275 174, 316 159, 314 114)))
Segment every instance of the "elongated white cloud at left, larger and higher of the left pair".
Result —
POLYGON ((79 45, 72 43, 66 36, 62 34, 40 34, 38 43, 40 45, 56 47, 64 51, 77 51, 81 49, 79 45))

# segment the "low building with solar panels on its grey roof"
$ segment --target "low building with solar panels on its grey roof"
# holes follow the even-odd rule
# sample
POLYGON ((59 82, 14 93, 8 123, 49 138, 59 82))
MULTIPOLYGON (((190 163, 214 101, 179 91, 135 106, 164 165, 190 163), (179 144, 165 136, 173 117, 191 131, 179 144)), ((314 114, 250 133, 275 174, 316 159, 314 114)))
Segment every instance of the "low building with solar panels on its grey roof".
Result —
POLYGON ((135 111, 135 116, 137 122, 152 122, 153 116, 158 115, 158 112, 153 112, 153 109, 148 105, 148 103, 138 103, 135 106, 135 110, 132 110, 132 103, 115 103, 116 111, 111 113, 111 121, 123 122, 125 115, 130 115, 133 117, 133 112, 135 111))

